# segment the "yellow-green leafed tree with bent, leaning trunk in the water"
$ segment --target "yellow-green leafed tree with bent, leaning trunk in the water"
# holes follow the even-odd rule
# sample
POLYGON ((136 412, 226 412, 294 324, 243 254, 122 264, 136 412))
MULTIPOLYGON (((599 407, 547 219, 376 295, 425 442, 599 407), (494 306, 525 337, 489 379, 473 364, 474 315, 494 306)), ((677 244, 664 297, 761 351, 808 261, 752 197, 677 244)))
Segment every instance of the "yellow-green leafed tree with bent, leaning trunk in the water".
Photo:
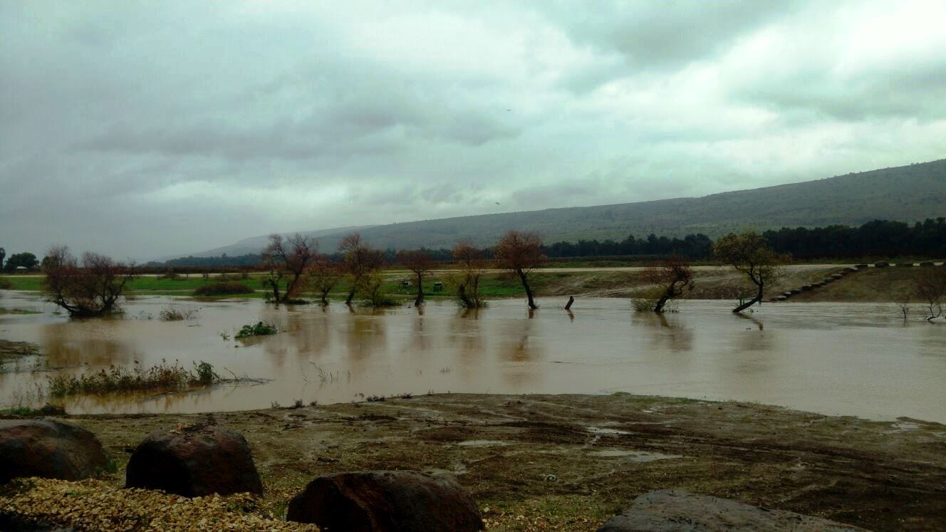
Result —
POLYGON ((746 231, 736 235, 729 233, 713 244, 713 256, 724 264, 729 264, 737 271, 742 272, 758 292, 749 301, 733 309, 739 313, 762 301, 765 285, 779 278, 780 264, 787 262, 790 257, 776 253, 759 233, 746 231))

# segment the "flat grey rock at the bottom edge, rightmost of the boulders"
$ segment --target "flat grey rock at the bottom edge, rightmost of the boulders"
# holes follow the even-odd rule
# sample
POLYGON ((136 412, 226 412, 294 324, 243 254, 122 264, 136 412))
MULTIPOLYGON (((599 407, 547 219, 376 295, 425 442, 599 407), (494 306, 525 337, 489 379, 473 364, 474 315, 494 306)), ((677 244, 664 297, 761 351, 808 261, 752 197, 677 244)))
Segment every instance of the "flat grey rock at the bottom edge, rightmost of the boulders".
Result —
POLYGON ((728 499, 692 495, 677 489, 644 493, 631 508, 609 519, 598 532, 643 530, 794 530, 856 531, 856 526, 835 523, 784 510, 744 505, 728 499))

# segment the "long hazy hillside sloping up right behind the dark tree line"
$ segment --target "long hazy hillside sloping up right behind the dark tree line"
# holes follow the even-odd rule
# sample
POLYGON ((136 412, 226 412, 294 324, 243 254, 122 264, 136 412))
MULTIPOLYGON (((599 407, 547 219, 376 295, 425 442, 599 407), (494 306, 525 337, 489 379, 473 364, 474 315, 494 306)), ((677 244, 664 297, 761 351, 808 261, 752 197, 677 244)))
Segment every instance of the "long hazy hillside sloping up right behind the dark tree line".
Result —
MULTIPOLYGON (((650 233, 668 237, 705 233, 715 238, 745 228, 860 225, 877 219, 917 222, 941 216, 946 216, 946 159, 702 198, 340 227, 308 234, 318 238, 326 251, 336 249, 342 236, 355 230, 382 249, 448 248, 460 239, 491 245, 513 228, 536 231, 547 242, 650 233)), ((254 237, 195 255, 255 253, 265 244, 266 237, 254 237)))

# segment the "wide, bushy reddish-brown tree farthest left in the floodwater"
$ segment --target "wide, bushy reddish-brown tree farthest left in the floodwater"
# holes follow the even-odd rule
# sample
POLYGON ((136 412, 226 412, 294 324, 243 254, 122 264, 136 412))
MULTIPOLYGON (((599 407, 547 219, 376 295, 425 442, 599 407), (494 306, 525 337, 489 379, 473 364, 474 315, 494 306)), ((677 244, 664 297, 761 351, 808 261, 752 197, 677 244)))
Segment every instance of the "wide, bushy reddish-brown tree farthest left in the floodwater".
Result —
POLYGON ((66 246, 49 249, 44 289, 49 301, 71 316, 97 316, 118 310, 118 300, 136 276, 134 263, 115 262, 97 253, 79 260, 66 246))

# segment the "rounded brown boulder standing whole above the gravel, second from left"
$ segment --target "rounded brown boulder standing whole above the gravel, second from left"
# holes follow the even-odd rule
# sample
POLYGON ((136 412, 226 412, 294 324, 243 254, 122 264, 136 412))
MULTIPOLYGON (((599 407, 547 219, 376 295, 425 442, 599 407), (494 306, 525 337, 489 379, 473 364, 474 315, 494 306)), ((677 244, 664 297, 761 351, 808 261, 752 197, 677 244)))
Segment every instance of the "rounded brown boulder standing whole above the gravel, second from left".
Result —
POLYGON ((125 488, 163 489, 184 497, 263 493, 243 435, 209 422, 149 434, 131 453, 125 488))

